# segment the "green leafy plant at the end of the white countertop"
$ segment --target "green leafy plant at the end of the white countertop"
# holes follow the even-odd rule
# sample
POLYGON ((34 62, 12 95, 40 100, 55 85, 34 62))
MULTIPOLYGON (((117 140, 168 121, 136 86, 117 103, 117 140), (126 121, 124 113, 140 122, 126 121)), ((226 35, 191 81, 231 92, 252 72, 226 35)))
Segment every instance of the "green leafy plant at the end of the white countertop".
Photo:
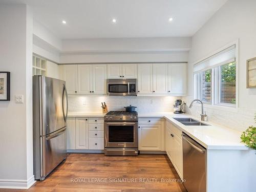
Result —
POLYGON ((241 140, 246 144, 246 146, 256 150, 256 127, 249 126, 241 135, 241 140))

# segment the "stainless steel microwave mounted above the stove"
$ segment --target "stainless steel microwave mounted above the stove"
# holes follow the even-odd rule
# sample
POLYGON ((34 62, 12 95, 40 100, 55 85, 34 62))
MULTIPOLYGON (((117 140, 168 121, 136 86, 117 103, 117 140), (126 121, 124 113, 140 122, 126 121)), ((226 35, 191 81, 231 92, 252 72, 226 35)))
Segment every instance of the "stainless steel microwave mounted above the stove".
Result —
POLYGON ((108 95, 137 96, 137 79, 108 79, 108 95))

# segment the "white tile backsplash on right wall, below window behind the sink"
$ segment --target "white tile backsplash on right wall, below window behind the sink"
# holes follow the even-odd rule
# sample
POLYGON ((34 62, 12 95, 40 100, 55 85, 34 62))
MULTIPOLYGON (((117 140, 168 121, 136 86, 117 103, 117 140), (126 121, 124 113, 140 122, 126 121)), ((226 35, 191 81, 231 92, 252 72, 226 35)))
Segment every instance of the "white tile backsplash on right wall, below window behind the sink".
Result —
MULTIPOLYGON (((183 99, 187 102, 185 108, 186 113, 200 118, 201 105, 194 104, 193 107, 189 109, 188 106, 193 100, 193 98, 183 97, 183 99)), ((245 131, 248 128, 248 126, 251 125, 256 126, 256 123, 254 122, 254 113, 256 112, 256 109, 252 110, 238 108, 237 112, 233 112, 231 110, 204 108, 204 111, 206 111, 206 115, 208 116, 209 121, 230 127, 231 129, 237 131, 245 131)))

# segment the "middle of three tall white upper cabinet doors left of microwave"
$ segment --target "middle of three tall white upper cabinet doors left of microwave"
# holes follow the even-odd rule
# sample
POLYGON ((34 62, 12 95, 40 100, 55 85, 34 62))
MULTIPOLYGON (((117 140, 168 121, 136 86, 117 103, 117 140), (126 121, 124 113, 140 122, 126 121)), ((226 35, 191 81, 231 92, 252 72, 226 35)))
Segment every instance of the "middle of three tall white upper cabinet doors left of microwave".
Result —
POLYGON ((78 65, 78 94, 92 92, 92 65, 78 65))

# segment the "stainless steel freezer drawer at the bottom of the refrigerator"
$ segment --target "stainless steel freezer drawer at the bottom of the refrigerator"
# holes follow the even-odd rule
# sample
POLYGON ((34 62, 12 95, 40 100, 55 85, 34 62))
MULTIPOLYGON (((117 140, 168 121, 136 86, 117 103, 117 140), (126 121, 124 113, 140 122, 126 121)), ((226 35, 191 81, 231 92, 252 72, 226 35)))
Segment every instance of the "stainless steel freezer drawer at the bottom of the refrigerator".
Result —
MULTIPOLYGON (((66 127, 56 133, 41 136, 41 170, 40 177, 45 178, 67 157, 66 127)), ((42 180, 42 179, 41 179, 42 180)))

